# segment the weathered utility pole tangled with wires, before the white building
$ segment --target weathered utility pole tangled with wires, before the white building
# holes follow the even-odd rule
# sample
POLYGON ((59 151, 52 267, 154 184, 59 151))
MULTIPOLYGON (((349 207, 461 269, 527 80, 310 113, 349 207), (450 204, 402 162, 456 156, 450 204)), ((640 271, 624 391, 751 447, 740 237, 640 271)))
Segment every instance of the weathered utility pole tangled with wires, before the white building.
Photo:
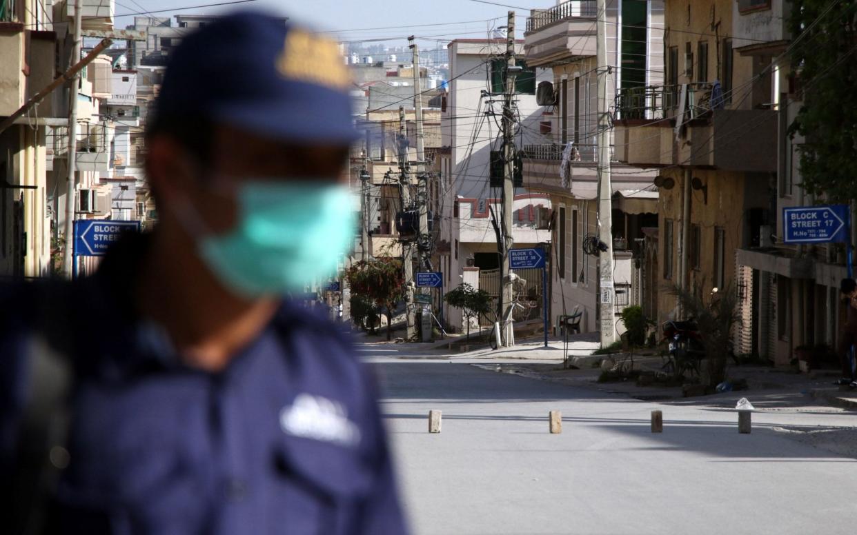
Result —
POLYGON ((509 250, 514 245, 512 236, 512 201, 515 198, 515 151, 514 124, 515 115, 512 110, 515 98, 515 77, 518 75, 518 65, 515 62, 515 12, 509 11, 506 21, 506 91, 503 95, 503 265, 500 270, 503 291, 500 295, 501 337, 503 345, 512 345, 512 324, 503 325, 502 321, 512 313, 512 270, 509 268, 509 250))

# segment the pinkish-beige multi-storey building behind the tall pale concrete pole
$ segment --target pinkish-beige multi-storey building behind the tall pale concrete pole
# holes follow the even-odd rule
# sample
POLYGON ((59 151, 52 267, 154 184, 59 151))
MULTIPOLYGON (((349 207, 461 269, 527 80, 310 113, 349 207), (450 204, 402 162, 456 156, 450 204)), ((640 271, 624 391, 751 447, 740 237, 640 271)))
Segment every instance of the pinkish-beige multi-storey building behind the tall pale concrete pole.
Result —
MULTIPOLYGON (((598 328, 598 265, 604 261, 602 253, 584 246, 598 236, 599 99, 612 112, 617 90, 662 83, 663 3, 608 0, 605 17, 607 65, 596 63, 594 0, 532 9, 524 33, 528 64, 553 74, 537 88, 536 128, 544 139, 523 147, 524 186, 548 195, 553 206, 553 213, 542 211, 538 222, 552 245, 551 321, 555 328, 560 316, 579 312, 574 321, 584 332, 598 328), (607 77, 605 95, 598 95, 599 76, 607 77)), ((612 148, 612 133, 609 139, 612 148)), ((651 258, 646 261, 643 245, 645 236, 657 231, 658 193, 652 185, 654 169, 637 169, 616 158, 610 167, 618 315, 629 305, 653 308, 655 268, 651 258)))

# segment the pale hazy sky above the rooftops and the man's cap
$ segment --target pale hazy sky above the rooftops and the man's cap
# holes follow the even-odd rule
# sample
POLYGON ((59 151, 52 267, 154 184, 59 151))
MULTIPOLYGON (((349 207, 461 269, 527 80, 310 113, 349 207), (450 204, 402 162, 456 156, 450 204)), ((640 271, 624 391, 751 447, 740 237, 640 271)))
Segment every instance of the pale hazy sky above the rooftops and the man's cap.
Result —
MULTIPOLYGON (((116 27, 123 28, 133 22, 131 16, 147 9, 169 9, 156 16, 177 14, 214 15, 230 9, 253 7, 273 9, 295 21, 308 24, 316 30, 333 32, 339 40, 385 39, 390 45, 401 45, 405 38, 415 35, 426 41, 448 42, 457 37, 484 37, 489 26, 505 26, 509 8, 472 0, 255 0, 249 3, 209 7, 203 9, 176 9, 198 6, 224 0, 119 0, 116 2, 116 27), (141 9, 142 8, 142 9, 141 9), (464 23, 466 22, 466 23, 464 23), (416 25, 438 26, 416 26, 416 25), (382 28, 387 29, 364 29, 382 28)), ((549 7, 555 0, 496 0, 512 6, 549 7)), ((529 9, 517 9, 518 37, 523 35, 524 22, 529 9)))

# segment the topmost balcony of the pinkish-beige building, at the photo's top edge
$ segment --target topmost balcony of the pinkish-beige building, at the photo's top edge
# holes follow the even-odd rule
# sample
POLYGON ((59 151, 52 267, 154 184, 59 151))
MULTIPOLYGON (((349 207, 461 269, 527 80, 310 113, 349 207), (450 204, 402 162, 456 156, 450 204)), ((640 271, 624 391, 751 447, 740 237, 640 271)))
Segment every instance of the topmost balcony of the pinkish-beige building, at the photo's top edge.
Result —
POLYGON ((596 55, 596 3, 577 0, 530 9, 524 33, 527 65, 538 67, 596 55))

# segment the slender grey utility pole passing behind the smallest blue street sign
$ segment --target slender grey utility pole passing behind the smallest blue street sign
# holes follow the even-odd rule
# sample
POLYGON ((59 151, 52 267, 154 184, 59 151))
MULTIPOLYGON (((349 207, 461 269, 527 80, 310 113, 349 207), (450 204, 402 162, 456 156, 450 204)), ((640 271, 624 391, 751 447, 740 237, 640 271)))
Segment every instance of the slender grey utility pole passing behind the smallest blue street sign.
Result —
MULTIPOLYGON (((423 134, 423 96, 421 95, 422 87, 420 86, 420 50, 414 43, 414 36, 408 38, 411 51, 414 53, 414 122, 416 126, 417 138, 417 208, 419 210, 420 223, 419 234, 417 235, 417 254, 419 255, 420 270, 426 269, 428 265, 427 257, 429 251, 426 246, 431 243, 428 238, 428 174, 425 169, 425 146, 423 134)), ((431 294, 431 288, 417 288, 421 294, 431 294)), ((427 306, 423 306, 423 314, 420 318, 420 330, 423 333, 423 342, 431 342, 431 309, 428 306, 428 314, 425 311, 427 306)))

